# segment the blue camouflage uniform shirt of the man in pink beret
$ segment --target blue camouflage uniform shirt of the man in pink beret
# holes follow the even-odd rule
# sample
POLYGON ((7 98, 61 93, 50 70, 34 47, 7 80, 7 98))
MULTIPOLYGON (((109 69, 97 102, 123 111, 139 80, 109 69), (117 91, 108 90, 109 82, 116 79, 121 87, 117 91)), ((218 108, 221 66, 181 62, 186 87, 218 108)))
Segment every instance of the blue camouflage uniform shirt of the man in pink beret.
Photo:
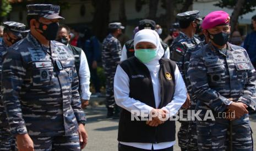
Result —
POLYGON ((188 75, 198 102, 196 109, 204 115, 207 109, 224 112, 231 103, 249 106, 255 91, 255 69, 246 50, 227 44, 220 50, 209 43, 192 54, 188 75))

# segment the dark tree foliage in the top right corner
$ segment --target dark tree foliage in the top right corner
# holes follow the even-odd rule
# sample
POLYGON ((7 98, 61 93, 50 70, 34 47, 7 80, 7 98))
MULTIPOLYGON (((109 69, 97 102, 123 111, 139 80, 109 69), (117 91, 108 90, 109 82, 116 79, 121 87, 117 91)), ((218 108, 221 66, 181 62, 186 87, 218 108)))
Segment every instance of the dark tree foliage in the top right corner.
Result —
MULTIPOLYGON (((214 5, 220 8, 234 8, 237 1, 238 0, 220 0, 219 3, 214 5)), ((254 7, 256 7, 255 0, 246 0, 246 2, 243 5, 243 9, 241 10, 239 15, 247 14, 249 12, 254 11, 254 7)))

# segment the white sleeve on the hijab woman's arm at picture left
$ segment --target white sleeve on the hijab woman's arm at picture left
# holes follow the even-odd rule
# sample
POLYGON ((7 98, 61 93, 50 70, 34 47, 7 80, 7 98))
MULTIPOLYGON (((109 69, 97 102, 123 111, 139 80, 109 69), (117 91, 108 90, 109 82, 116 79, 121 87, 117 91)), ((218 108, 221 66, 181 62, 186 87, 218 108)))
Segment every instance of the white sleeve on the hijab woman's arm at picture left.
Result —
MULTIPOLYGON (((147 111, 150 113, 151 109, 153 108, 143 102, 140 102, 139 100, 129 97, 129 92, 129 77, 126 72, 123 71, 122 67, 118 65, 114 78, 114 95, 117 105, 129 112, 147 111)), ((139 113, 139 115, 142 116, 145 114, 139 113)), ((147 116, 145 115, 145 118, 146 117, 147 116)))

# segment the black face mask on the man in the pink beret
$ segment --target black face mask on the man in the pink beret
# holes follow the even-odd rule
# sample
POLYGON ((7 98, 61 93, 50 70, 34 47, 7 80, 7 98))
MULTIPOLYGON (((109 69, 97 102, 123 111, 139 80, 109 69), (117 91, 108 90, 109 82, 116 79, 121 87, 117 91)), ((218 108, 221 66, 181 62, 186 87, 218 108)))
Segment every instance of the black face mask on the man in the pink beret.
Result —
MULTIPOLYGON (((207 31, 208 32, 208 31, 207 31)), ((220 32, 216 34, 209 34, 209 38, 213 40, 213 42, 217 45, 225 45, 228 41, 228 38, 230 37, 230 33, 220 32)))

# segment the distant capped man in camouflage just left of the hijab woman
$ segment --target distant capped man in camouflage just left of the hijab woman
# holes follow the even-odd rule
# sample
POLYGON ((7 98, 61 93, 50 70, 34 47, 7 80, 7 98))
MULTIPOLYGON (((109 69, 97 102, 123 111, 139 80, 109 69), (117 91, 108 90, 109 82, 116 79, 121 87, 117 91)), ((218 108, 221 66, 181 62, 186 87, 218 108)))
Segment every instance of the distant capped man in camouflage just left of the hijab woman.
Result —
POLYGON ((120 22, 113 22, 108 25, 110 34, 102 43, 102 65, 106 75, 106 107, 107 118, 118 118, 119 107, 116 105, 113 91, 113 80, 116 73, 117 63, 121 57, 121 44, 117 37, 122 34, 124 27, 120 22), (115 108, 115 114, 113 114, 115 108))

